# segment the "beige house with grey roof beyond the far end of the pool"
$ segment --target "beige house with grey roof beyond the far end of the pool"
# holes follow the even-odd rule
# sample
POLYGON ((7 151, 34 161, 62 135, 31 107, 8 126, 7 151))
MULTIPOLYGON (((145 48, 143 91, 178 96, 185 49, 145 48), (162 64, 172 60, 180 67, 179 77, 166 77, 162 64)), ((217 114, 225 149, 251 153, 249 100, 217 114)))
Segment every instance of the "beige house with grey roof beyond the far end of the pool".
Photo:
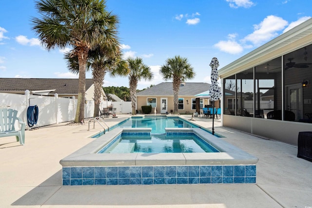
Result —
MULTIPOLYGON (((196 95, 210 89, 208 83, 181 83, 178 94, 178 113, 191 114, 199 112, 205 105, 210 105, 210 99, 198 98, 196 95), (197 109, 197 110, 196 110, 197 109)), ((151 88, 137 93, 137 111, 141 111, 141 106, 152 106, 152 113, 171 113, 174 110, 174 91, 172 82, 162 82, 151 88)))

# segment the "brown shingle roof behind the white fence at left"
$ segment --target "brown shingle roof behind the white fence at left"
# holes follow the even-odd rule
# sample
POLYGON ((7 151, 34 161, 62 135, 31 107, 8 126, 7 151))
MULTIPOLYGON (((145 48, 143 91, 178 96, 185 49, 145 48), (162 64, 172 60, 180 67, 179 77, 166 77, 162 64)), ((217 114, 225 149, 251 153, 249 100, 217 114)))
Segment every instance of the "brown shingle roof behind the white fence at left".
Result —
MULTIPOLYGON (((93 84, 92 79, 86 79, 86 90, 93 84)), ((0 92, 24 94, 25 90, 33 94, 45 95, 78 95, 78 79, 50 78, 0 78, 0 92)))

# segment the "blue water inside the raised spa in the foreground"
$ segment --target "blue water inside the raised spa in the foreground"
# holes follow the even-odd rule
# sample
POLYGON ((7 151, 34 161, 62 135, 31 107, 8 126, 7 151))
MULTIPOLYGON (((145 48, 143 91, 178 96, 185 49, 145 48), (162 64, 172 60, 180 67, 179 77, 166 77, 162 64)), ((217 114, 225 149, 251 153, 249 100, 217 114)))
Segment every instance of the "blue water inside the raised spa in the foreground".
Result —
POLYGON ((193 132, 178 136, 166 134, 129 135, 123 133, 98 153, 219 152, 193 132))

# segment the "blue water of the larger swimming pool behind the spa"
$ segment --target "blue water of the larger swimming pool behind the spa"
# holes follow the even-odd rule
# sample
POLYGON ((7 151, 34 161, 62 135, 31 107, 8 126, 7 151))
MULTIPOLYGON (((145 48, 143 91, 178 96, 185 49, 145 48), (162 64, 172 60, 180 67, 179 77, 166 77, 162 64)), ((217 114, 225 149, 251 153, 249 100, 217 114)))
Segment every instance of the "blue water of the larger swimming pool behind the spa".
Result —
POLYGON ((165 128, 198 128, 197 126, 178 117, 145 116, 132 117, 117 127, 119 128, 152 128, 151 134, 163 134, 165 128))

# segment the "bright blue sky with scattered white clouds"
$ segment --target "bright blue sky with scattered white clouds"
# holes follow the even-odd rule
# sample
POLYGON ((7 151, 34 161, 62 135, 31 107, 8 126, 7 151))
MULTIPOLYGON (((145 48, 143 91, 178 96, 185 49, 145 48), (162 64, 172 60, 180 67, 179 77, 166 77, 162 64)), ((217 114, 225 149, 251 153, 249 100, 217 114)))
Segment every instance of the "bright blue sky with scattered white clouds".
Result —
MULTIPOLYGON (((220 69, 312 17, 311 0, 107 0, 106 5, 119 17, 124 56, 142 57, 154 73, 138 89, 163 82, 159 68, 176 55, 194 68, 189 82, 211 83, 213 57, 220 69)), ((69 73, 64 50, 40 46, 31 30, 33 17, 38 17, 35 1, 0 0, 0 77, 78 78, 69 73)), ((104 86, 129 83, 106 75, 104 86)))

